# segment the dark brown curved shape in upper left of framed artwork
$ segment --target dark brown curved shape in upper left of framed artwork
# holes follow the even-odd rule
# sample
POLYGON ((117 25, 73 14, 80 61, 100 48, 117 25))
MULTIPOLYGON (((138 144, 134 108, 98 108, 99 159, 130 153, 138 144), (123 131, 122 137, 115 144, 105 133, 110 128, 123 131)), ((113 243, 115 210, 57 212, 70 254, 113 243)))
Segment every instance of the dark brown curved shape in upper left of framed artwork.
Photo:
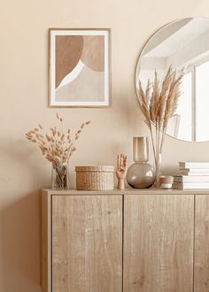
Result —
POLYGON ((56 36, 56 88, 64 77, 74 70, 81 58, 82 49, 81 35, 56 36))

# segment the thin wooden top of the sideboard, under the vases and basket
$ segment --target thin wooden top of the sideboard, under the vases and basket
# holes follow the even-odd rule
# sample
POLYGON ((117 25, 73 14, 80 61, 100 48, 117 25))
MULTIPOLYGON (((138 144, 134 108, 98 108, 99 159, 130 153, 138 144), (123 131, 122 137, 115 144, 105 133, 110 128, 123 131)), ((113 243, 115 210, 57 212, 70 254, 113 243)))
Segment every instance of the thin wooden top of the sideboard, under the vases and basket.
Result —
POLYGON ((126 188, 124 190, 76 190, 76 189, 51 189, 43 188, 43 194, 50 196, 75 196, 75 195, 209 195, 209 189, 156 189, 156 188, 126 188))

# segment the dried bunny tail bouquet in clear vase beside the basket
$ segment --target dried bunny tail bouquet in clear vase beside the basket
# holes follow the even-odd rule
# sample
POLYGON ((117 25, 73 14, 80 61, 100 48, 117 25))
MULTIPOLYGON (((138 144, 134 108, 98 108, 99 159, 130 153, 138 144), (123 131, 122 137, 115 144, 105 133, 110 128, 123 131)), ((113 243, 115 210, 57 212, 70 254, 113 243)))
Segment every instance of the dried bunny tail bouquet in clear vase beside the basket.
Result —
POLYGON ((63 118, 57 113, 59 122, 58 127, 50 127, 45 134, 43 133, 43 126, 38 124, 33 130, 26 133, 26 138, 35 142, 43 156, 50 161, 53 169, 58 173, 57 184, 58 187, 66 187, 66 164, 69 158, 73 155, 75 142, 79 139, 84 127, 89 125, 90 121, 81 124, 79 130, 72 137, 72 131, 69 127, 64 131, 63 118), (65 165, 63 167, 63 165, 65 165))

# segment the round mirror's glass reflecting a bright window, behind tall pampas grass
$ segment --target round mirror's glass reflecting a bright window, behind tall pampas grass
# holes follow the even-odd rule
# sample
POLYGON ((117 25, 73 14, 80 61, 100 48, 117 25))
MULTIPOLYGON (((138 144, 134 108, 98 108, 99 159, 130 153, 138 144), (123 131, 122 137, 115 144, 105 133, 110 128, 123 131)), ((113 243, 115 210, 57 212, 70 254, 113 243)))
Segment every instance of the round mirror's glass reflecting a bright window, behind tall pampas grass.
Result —
POLYGON ((209 19, 188 18, 159 29, 138 60, 135 86, 163 79, 170 65, 185 68, 181 96, 167 134, 190 142, 209 141, 209 19))

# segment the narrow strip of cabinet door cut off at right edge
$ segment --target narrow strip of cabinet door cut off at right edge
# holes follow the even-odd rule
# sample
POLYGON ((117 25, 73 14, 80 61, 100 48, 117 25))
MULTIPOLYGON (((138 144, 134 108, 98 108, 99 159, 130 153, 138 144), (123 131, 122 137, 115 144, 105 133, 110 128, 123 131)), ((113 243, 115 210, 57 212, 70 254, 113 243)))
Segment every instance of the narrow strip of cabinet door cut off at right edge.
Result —
POLYGON ((209 196, 196 196, 195 292, 209 291, 209 196))

